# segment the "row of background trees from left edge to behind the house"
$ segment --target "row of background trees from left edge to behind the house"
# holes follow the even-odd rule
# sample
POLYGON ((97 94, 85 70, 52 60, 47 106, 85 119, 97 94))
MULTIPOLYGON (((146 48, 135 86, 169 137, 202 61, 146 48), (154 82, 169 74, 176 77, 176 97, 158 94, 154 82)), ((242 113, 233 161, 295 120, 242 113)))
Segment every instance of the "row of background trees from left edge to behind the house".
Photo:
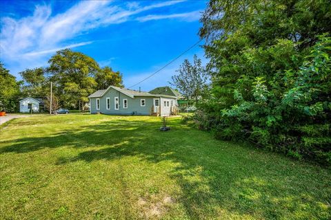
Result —
POLYGON ((16 82, 14 76, 1 65, 0 102, 6 111, 17 111, 19 97, 49 98, 50 81, 53 94, 58 98, 57 107, 81 109, 88 102, 88 96, 97 89, 110 85, 123 86, 122 74, 110 67, 100 68, 90 56, 72 50, 60 50, 48 61, 49 67, 26 69, 19 72, 23 82, 16 82), (20 91, 21 89, 21 91, 20 91))

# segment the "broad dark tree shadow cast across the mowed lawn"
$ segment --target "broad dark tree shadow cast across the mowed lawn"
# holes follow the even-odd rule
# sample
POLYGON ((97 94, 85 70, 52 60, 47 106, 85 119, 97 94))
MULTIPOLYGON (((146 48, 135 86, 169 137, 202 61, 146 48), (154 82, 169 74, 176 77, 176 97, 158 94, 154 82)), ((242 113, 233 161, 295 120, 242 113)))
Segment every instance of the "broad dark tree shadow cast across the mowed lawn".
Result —
POLYGON ((163 161, 179 164, 169 175, 181 188, 177 202, 183 204, 192 219, 330 217, 330 208, 325 209, 328 206, 325 201, 330 201, 330 179, 319 181, 318 175, 312 179, 310 175, 316 167, 291 166, 292 162, 281 156, 210 140, 210 135, 179 124, 162 133, 158 131, 159 125, 127 119, 83 125, 76 131, 65 130, 52 136, 0 142, 4 145, 0 153, 94 146, 97 148, 75 157, 60 157, 57 164, 129 156, 155 164, 163 161), (310 172, 299 175, 298 169, 310 172), (316 191, 310 192, 305 185, 316 191))

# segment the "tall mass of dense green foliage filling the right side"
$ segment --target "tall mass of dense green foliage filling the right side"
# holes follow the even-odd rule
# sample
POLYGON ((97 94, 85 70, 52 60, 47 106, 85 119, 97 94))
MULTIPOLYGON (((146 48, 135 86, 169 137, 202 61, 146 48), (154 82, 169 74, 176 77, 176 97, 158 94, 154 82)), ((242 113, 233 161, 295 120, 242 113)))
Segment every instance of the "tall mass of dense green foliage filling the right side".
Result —
POLYGON ((330 164, 330 2, 214 0, 201 21, 212 70, 203 129, 330 164))

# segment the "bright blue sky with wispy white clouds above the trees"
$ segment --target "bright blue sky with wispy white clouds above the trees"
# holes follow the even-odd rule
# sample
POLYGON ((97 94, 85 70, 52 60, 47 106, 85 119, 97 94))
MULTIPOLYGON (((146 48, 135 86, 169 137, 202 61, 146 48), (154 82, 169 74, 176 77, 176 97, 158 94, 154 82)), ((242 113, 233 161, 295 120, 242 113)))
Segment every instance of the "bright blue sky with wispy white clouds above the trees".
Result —
MULTIPOLYGON (((130 87, 199 41, 206 1, 0 1, 0 59, 10 73, 43 67, 71 48, 123 74, 130 87)), ((202 45, 203 42, 200 43, 202 45)), ((185 58, 203 58, 198 45, 139 86, 168 85, 185 58)))

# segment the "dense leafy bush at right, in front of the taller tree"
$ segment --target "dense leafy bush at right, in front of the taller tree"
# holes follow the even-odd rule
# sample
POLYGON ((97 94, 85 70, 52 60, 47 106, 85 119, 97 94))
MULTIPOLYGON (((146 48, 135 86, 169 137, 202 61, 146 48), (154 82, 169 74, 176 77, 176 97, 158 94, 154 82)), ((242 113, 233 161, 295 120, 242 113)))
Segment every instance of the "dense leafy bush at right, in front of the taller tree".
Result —
POLYGON ((230 107, 222 107, 230 99, 210 99, 190 119, 222 140, 249 140, 291 157, 331 165, 330 52, 331 38, 320 36, 297 71, 253 80, 242 76, 230 107))

